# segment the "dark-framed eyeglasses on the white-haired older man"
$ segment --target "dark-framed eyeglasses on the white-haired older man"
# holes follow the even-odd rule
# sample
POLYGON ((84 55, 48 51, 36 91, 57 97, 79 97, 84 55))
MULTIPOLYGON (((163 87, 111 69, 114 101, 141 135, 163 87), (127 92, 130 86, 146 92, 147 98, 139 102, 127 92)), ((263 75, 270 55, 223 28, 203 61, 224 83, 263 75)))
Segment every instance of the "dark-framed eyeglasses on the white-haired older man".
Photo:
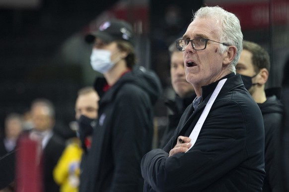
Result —
MULTIPOLYGON (((192 47, 195 50, 204 50, 205 48, 207 48, 208 41, 216 42, 216 41, 205 39, 205 38, 193 39, 193 40, 180 39, 176 41, 176 47, 177 47, 177 50, 184 51, 185 47, 187 47, 189 45, 189 42, 191 42, 192 47)), ((226 43, 220 43, 220 42, 216 42, 216 43, 222 44, 224 46, 229 46, 226 43)))

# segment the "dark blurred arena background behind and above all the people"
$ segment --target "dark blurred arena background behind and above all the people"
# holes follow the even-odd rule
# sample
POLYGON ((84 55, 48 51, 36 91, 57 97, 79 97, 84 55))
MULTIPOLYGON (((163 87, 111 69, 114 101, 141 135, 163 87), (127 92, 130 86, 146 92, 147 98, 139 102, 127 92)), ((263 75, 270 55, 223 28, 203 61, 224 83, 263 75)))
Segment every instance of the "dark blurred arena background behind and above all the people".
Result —
MULTIPOLYGON (((97 75, 89 64, 91 47, 84 44, 83 38, 91 28, 96 28, 91 23, 108 16, 126 19, 134 25, 139 64, 158 74, 164 97, 171 94, 167 48, 183 35, 192 12, 204 3, 222 6, 240 18, 244 39, 259 43, 270 52, 268 87, 281 85, 283 65, 289 54, 288 0, 39 2, 34 7, 0 3, 0 134, 7 114, 24 113, 31 101, 39 97, 55 104, 59 124, 67 127, 74 120, 77 90, 92 85, 97 75), (179 20, 169 19, 168 13, 178 15, 179 20)), ((155 115, 160 117, 158 124, 165 125, 166 108, 161 100, 155 115)))

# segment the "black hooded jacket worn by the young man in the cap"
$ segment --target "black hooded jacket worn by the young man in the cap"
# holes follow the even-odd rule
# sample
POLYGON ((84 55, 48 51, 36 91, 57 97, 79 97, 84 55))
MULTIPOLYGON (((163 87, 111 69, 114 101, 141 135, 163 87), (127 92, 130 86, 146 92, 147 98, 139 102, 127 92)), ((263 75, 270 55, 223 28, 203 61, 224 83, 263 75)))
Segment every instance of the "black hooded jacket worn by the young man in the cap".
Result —
POLYGON ((91 148, 82 162, 80 192, 143 191, 140 164, 151 149, 153 105, 160 95, 155 73, 141 67, 101 96, 91 148))

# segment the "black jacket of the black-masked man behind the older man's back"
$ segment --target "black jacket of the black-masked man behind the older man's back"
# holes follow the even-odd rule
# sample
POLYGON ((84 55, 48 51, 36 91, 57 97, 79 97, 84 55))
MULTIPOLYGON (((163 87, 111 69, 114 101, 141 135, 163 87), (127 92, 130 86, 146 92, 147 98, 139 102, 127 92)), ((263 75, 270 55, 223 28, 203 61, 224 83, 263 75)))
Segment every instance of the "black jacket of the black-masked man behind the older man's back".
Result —
MULTIPOLYGON (((278 95, 278 94, 277 94, 278 95)), ((263 192, 281 192, 281 177, 279 167, 280 131, 283 122, 283 104, 275 95, 268 95, 264 103, 258 103, 265 128, 265 171, 263 192)))

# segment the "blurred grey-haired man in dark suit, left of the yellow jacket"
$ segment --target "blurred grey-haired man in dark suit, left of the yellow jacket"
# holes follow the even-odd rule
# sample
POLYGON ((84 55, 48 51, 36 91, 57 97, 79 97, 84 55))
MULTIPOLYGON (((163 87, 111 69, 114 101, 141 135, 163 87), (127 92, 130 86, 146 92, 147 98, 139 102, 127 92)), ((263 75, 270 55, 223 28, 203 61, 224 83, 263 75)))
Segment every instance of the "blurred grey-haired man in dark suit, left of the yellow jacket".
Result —
POLYGON ((53 169, 65 149, 65 141, 53 132, 54 105, 48 99, 38 98, 32 102, 30 110, 33 128, 29 130, 29 137, 39 141, 42 148, 44 192, 59 192, 59 185, 53 178, 53 169))

